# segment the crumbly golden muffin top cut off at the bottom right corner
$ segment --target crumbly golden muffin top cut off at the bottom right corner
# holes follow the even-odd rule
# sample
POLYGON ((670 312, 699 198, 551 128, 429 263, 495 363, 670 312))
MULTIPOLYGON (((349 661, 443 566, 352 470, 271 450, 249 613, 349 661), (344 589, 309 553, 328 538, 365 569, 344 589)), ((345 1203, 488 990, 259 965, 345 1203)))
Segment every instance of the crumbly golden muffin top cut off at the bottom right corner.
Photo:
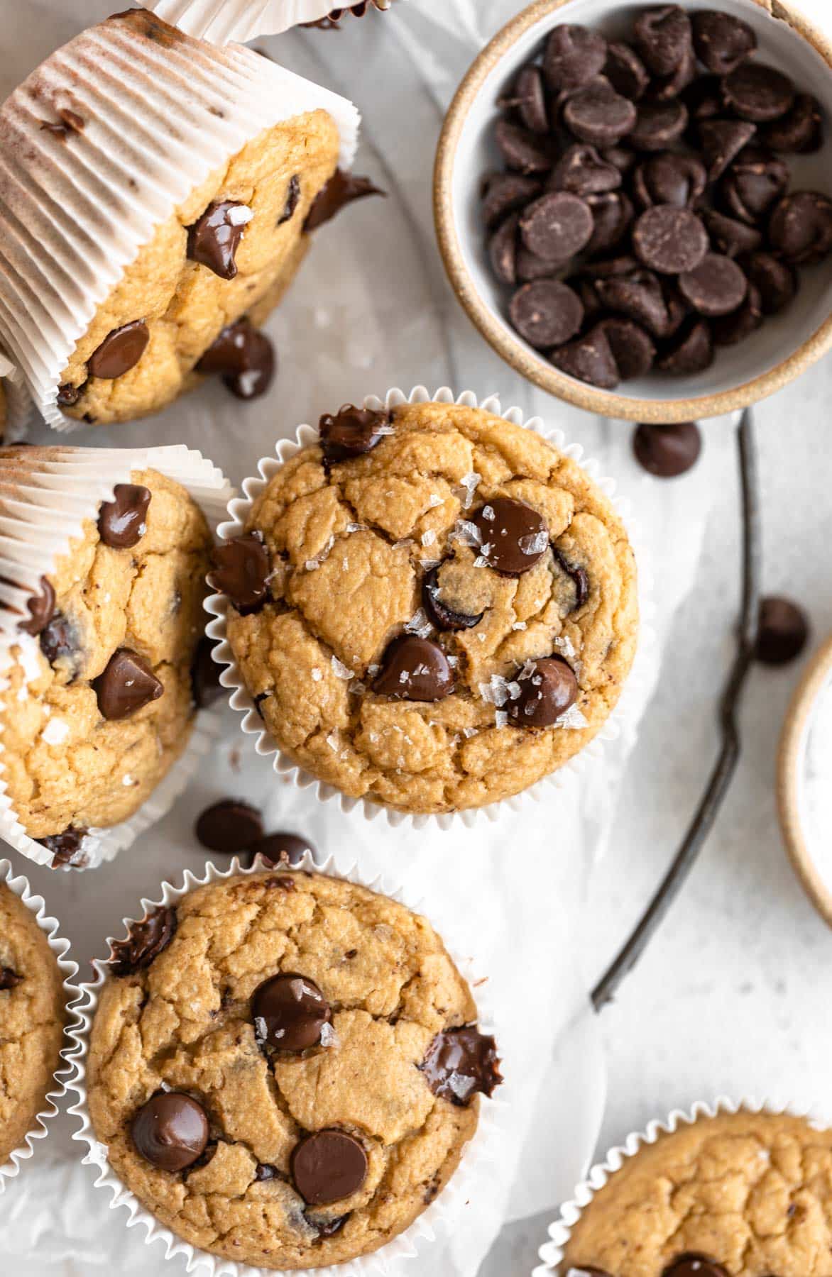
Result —
POLYGON ((739 1112, 661 1135, 582 1211, 560 1272, 832 1277, 832 1131, 739 1112))

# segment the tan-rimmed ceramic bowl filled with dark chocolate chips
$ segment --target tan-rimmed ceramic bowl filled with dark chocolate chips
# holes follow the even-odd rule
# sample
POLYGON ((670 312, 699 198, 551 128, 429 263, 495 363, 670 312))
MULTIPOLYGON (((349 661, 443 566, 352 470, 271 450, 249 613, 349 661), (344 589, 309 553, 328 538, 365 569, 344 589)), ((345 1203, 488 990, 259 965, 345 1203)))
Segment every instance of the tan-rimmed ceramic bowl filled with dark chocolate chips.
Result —
POLYGON ((832 45, 776 10, 535 0, 469 69, 437 152, 438 244, 529 381, 688 421, 832 346, 832 45))

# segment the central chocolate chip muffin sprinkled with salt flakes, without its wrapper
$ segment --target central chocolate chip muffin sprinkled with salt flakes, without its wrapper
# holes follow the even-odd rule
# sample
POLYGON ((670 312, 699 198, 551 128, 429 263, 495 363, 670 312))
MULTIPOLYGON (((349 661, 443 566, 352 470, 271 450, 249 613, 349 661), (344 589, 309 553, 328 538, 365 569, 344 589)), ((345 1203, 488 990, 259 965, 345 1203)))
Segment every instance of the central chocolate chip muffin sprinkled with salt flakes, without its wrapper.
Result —
POLYGON ((607 498, 539 435, 459 405, 321 418, 210 582, 284 755, 405 812, 555 771, 635 651, 635 564, 607 498))

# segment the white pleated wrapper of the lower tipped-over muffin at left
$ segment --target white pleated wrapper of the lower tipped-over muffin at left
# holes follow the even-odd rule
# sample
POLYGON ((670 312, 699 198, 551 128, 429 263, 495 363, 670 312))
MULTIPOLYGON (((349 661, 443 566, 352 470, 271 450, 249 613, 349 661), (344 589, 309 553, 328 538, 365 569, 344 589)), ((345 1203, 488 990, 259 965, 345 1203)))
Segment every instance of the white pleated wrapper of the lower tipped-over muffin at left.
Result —
MULTIPOLYGON (((155 448, 74 448, 58 444, 27 448, 19 466, 0 457, 0 693, 6 672, 19 663, 32 678, 38 673, 38 638, 18 630, 28 617, 31 593, 40 593, 42 576, 54 571, 58 555, 83 535, 86 520, 111 501, 115 485, 129 483, 133 470, 157 470, 176 480, 201 507, 212 531, 225 513, 234 489, 221 470, 184 444, 155 448), (28 589, 27 589, 28 587, 28 589)), ((83 863, 92 868, 120 850, 170 810, 197 770, 199 759, 217 736, 217 711, 198 710, 188 743, 139 810, 107 829, 91 829, 83 843, 83 863)), ((52 852, 26 833, 6 792, 0 741, 0 838, 38 865, 51 865, 52 852)))

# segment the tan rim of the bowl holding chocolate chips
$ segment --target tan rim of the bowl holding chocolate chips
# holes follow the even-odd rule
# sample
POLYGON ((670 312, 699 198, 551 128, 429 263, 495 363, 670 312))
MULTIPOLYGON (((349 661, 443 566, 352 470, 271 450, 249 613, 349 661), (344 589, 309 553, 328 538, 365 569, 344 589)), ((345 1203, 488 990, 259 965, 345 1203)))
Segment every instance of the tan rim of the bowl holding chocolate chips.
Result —
MULTIPOLYGON (((518 338, 505 331, 474 287, 463 258, 452 200, 454 165, 468 112, 486 77, 510 52, 518 40, 537 23, 574 3, 575 0, 533 0, 511 18, 470 64, 447 110, 433 165, 433 223, 440 255, 454 292, 481 335, 515 372, 541 389, 597 416, 670 424, 721 416, 757 404, 782 389, 832 349, 832 310, 797 350, 748 382, 712 395, 642 400, 579 382, 561 373, 553 364, 547 364, 543 356, 529 352, 518 338)), ((785 20, 812 45, 832 70, 832 40, 796 9, 791 0, 777 0, 776 15, 772 11, 772 0, 745 0, 745 3, 757 5, 777 20, 785 20)))

